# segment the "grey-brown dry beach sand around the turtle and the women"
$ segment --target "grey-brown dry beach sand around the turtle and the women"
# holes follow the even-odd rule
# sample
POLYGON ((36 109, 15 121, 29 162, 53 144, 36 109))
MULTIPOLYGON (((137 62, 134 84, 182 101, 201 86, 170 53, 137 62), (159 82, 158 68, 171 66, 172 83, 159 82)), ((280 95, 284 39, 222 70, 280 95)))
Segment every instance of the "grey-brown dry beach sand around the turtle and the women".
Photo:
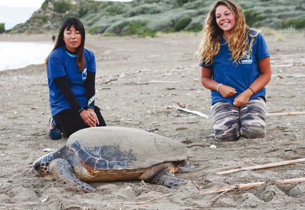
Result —
MULTIPOLYGON (((264 35, 272 65, 268 113, 304 112, 304 32, 283 33, 281 41, 264 35)), ((1 40, 51 42, 51 36, 3 35, 1 40)), ((155 132, 185 146, 202 145, 190 148, 195 157, 189 161, 195 168, 176 174, 187 183, 175 189, 132 181, 93 183, 97 192, 84 193, 70 182, 31 176, 30 164, 47 153, 43 150, 58 149, 67 139, 52 141, 47 135, 50 110, 45 66, 0 72, 0 209, 305 208, 305 183, 276 182, 305 177, 304 163, 217 174, 224 169, 304 158, 305 115, 267 117, 267 135, 261 139, 215 142, 209 90, 200 83, 198 61, 193 57, 198 44, 194 34, 86 39, 86 47, 97 59, 96 104, 108 126, 159 129, 155 132), (174 108, 177 103, 209 118, 179 111, 174 108), (253 182, 266 183, 223 194, 203 193, 208 188, 253 182)))

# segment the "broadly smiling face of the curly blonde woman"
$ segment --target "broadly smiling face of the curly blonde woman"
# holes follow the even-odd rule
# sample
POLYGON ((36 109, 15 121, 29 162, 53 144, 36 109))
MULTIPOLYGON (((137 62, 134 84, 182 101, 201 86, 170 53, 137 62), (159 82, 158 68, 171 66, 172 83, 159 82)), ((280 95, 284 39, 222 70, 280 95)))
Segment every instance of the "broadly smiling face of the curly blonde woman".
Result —
POLYGON ((236 19, 233 13, 225 5, 219 5, 216 8, 216 22, 217 25, 224 31, 223 36, 227 38, 232 28, 234 28, 236 19))

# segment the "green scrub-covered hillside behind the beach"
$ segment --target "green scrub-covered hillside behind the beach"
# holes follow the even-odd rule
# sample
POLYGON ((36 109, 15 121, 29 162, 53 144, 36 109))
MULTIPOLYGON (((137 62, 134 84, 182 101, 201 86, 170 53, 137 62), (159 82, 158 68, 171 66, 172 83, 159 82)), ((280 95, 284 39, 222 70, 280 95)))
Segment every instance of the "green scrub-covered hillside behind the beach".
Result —
MULTIPOLYGON (((62 21, 75 16, 85 29, 104 36, 154 37, 157 31, 200 31, 215 1, 212 0, 135 0, 95 2, 90 0, 45 0, 25 23, 10 33, 57 32, 62 21)), ((303 28, 305 5, 302 0, 236 0, 247 24, 252 27, 303 28)))

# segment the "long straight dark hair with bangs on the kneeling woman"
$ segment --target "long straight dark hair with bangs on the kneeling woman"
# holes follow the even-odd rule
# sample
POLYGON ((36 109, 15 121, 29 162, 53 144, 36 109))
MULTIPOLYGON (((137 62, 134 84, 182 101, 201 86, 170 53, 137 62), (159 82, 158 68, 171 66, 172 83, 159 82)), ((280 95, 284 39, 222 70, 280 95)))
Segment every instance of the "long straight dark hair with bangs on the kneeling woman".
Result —
MULTIPOLYGON (((82 22, 75 17, 69 17, 67 18, 63 24, 62 27, 60 27, 57 40, 55 42, 53 50, 55 50, 58 47, 65 46, 65 41, 64 41, 64 31, 65 29, 70 29, 71 26, 74 26, 76 30, 78 30, 81 34, 81 43, 77 49, 77 65, 79 67, 79 71, 82 71, 85 67, 85 60, 83 57, 83 51, 84 51, 84 46, 85 46, 85 29, 82 24, 82 22)), ((52 51, 53 51, 52 50, 52 51)), ((50 54, 49 54, 50 56, 50 54)), ((46 58, 45 63, 48 62, 49 56, 46 58)))

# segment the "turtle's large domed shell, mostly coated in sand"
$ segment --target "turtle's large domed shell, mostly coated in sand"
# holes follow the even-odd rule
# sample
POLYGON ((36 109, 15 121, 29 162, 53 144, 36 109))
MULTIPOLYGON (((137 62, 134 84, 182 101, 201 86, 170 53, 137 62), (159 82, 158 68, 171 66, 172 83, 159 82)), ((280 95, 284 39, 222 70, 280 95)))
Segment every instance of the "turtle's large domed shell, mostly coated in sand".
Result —
POLYGON ((173 139, 144 130, 110 126, 73 133, 67 141, 67 150, 75 154, 90 174, 83 176, 82 180, 86 181, 133 180, 153 165, 192 156, 188 148, 173 139))

